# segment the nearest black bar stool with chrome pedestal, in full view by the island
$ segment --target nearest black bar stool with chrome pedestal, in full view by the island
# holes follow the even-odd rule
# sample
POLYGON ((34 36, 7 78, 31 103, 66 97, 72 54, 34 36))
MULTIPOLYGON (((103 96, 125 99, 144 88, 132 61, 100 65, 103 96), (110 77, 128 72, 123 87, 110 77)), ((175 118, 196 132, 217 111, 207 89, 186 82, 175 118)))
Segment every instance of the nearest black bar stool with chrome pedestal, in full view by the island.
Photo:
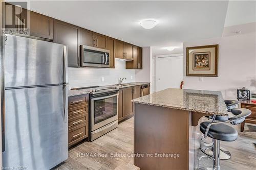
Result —
POLYGON ((202 122, 200 124, 200 131, 204 134, 204 138, 207 136, 214 139, 214 152, 213 157, 209 156, 201 156, 198 159, 198 167, 199 169, 211 169, 211 168, 203 168, 200 166, 200 160, 202 158, 210 158, 214 161, 213 169, 220 169, 220 141, 234 141, 238 138, 238 132, 236 129, 231 126, 225 125, 226 123, 230 123, 232 125, 238 125, 244 122, 245 117, 251 114, 249 109, 245 108, 236 108, 230 110, 234 115, 233 117, 229 117, 228 120, 224 122, 202 122))

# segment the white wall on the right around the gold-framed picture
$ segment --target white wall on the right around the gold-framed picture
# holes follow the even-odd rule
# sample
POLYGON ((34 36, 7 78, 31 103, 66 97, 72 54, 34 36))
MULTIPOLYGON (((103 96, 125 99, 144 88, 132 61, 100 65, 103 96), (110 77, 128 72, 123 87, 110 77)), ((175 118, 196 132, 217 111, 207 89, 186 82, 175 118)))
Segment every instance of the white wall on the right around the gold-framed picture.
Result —
POLYGON ((219 77, 186 77, 184 55, 184 88, 222 91, 225 99, 236 99, 237 88, 256 91, 256 34, 241 33, 215 39, 184 42, 186 47, 219 44, 219 77))

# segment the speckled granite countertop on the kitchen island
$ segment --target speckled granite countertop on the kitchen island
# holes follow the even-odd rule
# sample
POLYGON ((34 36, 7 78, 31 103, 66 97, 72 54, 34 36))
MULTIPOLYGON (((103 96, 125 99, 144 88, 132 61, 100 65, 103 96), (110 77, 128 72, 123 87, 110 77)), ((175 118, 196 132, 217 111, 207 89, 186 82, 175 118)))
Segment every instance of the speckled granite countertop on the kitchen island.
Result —
POLYGON ((206 114, 228 115, 220 91, 168 88, 134 99, 132 102, 206 114))

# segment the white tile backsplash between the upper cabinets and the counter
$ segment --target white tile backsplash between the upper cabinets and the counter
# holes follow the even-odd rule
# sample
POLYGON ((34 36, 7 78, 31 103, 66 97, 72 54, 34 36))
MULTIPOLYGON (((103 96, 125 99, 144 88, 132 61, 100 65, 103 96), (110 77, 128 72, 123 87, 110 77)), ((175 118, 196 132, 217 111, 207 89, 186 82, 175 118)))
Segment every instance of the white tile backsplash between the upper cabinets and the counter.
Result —
POLYGON ((125 61, 116 60, 116 68, 69 68, 69 88, 117 84, 119 78, 135 82, 135 69, 125 69, 125 61), (104 82, 102 82, 102 77, 104 82))

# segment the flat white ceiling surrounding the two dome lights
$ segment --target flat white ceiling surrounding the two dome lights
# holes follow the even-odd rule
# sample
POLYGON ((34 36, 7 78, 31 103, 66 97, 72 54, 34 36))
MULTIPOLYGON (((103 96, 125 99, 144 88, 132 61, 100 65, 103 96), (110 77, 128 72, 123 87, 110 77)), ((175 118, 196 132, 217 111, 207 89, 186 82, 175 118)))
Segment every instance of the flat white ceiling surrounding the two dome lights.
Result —
POLYGON ((139 46, 153 46, 153 55, 183 42, 221 37, 227 1, 31 1, 30 9, 74 25, 139 46), (154 18, 158 25, 143 29, 141 19, 154 18))

